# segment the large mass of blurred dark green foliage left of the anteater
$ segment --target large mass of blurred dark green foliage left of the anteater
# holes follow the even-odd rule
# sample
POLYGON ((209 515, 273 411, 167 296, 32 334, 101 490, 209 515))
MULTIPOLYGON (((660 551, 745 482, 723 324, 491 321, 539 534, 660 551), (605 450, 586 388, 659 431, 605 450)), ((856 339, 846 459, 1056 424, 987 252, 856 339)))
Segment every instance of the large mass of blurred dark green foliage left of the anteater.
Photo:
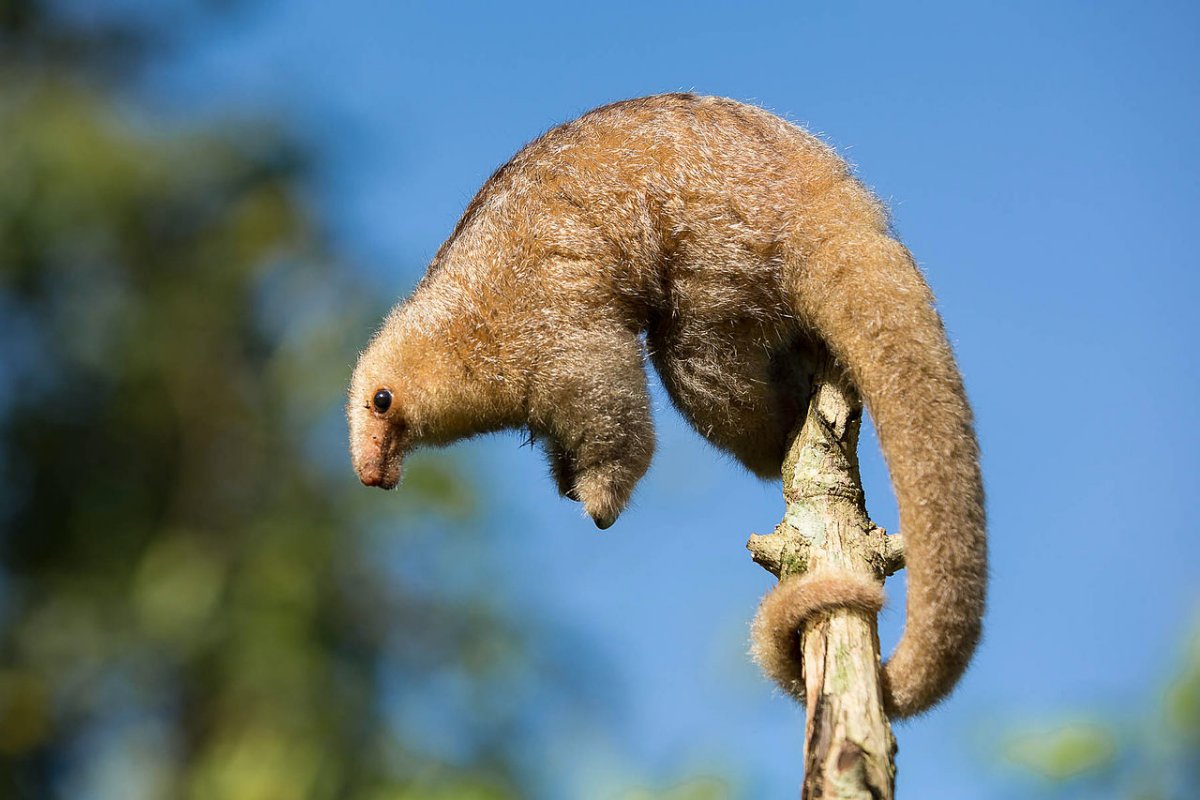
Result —
POLYGON ((470 493, 426 459, 380 522, 349 471, 379 309, 304 149, 139 112, 161 26, 118 19, 0 2, 0 796, 522 794, 470 493))

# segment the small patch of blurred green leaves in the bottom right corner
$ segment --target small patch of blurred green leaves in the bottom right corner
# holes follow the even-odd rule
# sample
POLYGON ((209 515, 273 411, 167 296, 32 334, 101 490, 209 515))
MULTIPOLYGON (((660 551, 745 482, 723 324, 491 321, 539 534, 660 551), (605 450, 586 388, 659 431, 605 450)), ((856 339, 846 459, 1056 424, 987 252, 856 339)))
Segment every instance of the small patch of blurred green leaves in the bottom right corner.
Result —
POLYGON ((1004 759, 1049 798, 1200 798, 1200 627, 1157 702, 1124 720, 1092 715, 1028 726, 1002 742, 1004 759))

